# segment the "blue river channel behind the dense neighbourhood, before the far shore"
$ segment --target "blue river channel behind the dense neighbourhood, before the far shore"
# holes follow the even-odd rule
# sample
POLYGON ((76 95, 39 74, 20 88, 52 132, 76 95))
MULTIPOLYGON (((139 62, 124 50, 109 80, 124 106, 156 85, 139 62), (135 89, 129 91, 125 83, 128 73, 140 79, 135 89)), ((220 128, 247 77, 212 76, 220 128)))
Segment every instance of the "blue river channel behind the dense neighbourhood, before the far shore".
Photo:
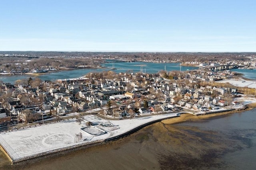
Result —
MULTIPOLYGON (((65 78, 78 78, 88 74, 89 72, 102 72, 102 71, 115 71, 115 72, 142 72, 144 73, 157 73, 160 70, 164 70, 166 66, 166 71, 171 70, 180 70, 180 63, 146 63, 146 62, 132 62, 132 63, 114 63, 114 67, 116 70, 111 69, 112 63, 104 64, 108 68, 84 68, 84 69, 75 69, 75 70, 65 70, 58 72, 49 72, 48 74, 42 74, 38 76, 41 80, 57 80, 57 79, 65 79, 65 78)), ((192 66, 182 66, 181 70, 185 71, 187 69, 193 70, 197 67, 192 66)), ((10 82, 14 84, 16 80, 27 79, 31 77, 30 74, 22 74, 22 75, 0 75, 0 80, 3 82, 10 82)))

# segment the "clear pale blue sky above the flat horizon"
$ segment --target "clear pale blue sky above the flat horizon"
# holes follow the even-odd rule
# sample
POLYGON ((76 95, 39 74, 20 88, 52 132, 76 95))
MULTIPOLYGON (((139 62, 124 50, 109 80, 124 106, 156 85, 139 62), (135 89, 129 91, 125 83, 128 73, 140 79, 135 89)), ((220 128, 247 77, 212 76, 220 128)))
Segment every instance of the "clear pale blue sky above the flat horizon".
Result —
POLYGON ((0 0, 0 51, 256 52, 256 0, 0 0))

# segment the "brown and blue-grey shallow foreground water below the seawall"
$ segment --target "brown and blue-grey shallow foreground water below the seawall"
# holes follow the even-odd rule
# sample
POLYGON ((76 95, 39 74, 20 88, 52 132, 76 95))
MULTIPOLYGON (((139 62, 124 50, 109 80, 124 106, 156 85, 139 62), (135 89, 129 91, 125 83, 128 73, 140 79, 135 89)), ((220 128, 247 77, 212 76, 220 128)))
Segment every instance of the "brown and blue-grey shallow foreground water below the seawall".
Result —
MULTIPOLYGON (((118 141, 4 169, 223 169, 256 167, 256 109, 208 119, 154 123, 118 141)), ((194 120, 190 120, 194 119, 194 120)), ((0 158, 2 158, 0 154, 0 158)), ((2 160, 1 160, 2 162, 2 160)), ((1 168, 1 167, 0 167, 1 168)))

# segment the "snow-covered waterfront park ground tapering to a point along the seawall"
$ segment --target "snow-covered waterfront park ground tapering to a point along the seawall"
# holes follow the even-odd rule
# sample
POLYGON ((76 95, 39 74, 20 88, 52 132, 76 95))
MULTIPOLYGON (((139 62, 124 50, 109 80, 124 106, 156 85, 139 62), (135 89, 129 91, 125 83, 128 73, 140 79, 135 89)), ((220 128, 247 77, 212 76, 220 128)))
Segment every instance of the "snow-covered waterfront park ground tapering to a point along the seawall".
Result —
POLYGON ((79 124, 76 119, 48 123, 20 128, 19 130, 0 133, 0 145, 6 150, 13 162, 29 158, 37 154, 48 153, 54 150, 74 147, 75 145, 89 144, 96 141, 104 141, 118 135, 122 135, 140 125, 159 119, 176 116, 177 113, 162 115, 149 115, 124 120, 106 120, 96 115, 84 116, 84 121, 79 124), (105 134, 92 136, 81 131, 86 122, 98 124, 97 127, 106 131, 105 134), (76 142, 76 135, 82 133, 82 139, 76 142))

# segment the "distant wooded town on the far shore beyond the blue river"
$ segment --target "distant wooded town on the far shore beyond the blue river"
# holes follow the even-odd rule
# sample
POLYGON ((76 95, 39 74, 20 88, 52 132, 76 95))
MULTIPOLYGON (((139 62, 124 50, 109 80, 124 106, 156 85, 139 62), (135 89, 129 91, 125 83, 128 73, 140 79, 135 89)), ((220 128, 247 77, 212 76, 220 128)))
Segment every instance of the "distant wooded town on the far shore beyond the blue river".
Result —
MULTIPOLYGON (((256 53, 90 53, 90 52, 0 52, 0 74, 42 73, 60 69, 99 68, 105 62, 144 61, 181 63, 183 66, 238 66, 253 69, 256 53)), ((104 66, 104 65, 103 65, 104 66)), ((237 68, 237 67, 236 67, 237 68)))

